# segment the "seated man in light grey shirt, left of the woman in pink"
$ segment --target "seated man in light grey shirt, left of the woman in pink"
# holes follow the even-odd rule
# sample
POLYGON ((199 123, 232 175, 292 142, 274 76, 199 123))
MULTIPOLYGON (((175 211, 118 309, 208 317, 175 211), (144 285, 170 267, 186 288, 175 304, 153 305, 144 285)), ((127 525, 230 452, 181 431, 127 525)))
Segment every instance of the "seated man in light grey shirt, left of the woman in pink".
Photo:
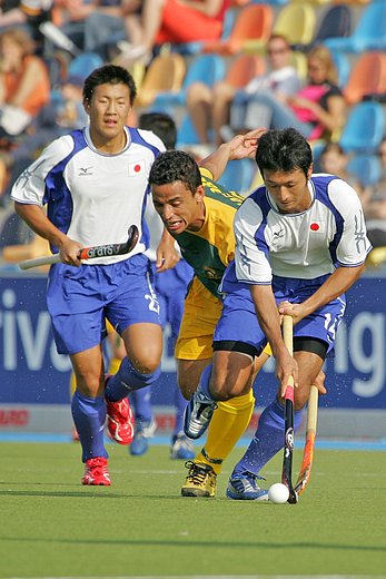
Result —
MULTIPOLYGON (((287 39, 281 35, 273 35, 268 41, 267 56, 267 75, 254 78, 244 89, 238 90, 227 81, 217 82, 214 88, 204 82, 189 86, 187 107, 200 143, 208 141, 210 127, 214 129, 216 146, 222 140, 229 140, 232 134, 246 133, 244 129, 248 126, 247 105, 255 94, 267 90, 280 100, 299 90, 300 79, 290 63, 293 52, 287 39), (226 130, 228 125, 231 133, 229 129, 226 130)), ((251 125, 265 126, 259 120, 257 125, 251 121, 251 125)))

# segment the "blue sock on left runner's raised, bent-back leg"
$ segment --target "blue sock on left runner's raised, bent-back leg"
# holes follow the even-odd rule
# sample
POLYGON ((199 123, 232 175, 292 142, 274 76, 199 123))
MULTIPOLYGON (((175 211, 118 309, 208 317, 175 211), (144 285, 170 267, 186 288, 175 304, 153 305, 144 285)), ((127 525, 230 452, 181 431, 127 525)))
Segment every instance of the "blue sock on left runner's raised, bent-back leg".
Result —
POLYGON ((105 396, 111 402, 117 402, 126 398, 129 392, 150 386, 160 375, 161 369, 150 374, 141 374, 133 367, 128 357, 123 357, 117 374, 110 376, 107 381, 105 396))

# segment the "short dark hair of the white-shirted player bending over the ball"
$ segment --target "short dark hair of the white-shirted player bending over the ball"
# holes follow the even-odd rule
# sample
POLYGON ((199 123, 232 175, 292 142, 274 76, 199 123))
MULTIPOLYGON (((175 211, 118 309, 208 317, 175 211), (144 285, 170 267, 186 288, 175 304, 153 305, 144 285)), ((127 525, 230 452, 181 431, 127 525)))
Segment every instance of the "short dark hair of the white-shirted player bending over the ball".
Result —
POLYGON ((307 176, 313 164, 313 151, 298 130, 273 129, 260 137, 256 163, 263 177, 265 170, 287 173, 295 169, 301 169, 307 176))

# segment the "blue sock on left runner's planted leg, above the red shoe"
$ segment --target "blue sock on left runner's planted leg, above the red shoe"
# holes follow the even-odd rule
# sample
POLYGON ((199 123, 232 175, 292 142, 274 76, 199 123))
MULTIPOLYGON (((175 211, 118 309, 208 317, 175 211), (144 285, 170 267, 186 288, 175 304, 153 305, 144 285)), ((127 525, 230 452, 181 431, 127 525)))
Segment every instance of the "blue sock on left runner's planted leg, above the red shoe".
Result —
POLYGON ((82 448, 82 461, 96 457, 108 459, 103 443, 106 403, 103 396, 91 399, 78 390, 72 396, 71 412, 82 448))

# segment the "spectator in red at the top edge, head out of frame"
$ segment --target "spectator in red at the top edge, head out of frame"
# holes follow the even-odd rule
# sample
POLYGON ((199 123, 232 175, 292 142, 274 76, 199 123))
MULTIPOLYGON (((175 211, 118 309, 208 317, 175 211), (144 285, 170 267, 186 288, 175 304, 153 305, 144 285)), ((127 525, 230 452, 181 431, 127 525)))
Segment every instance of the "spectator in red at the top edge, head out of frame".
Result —
POLYGON ((140 16, 126 18, 130 43, 120 45, 122 57, 138 59, 155 45, 216 40, 222 32, 230 0, 143 0, 140 16))

